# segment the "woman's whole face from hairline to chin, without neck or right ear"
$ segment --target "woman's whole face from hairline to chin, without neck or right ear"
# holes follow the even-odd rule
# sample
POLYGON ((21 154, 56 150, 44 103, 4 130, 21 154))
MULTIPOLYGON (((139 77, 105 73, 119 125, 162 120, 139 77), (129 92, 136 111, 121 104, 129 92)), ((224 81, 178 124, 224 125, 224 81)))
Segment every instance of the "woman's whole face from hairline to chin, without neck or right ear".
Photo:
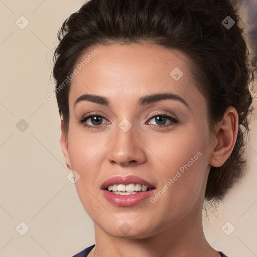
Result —
POLYGON ((86 58, 75 67, 61 139, 85 210, 118 237, 192 226, 201 218, 213 138, 189 60, 138 44, 97 46, 77 64, 86 58))

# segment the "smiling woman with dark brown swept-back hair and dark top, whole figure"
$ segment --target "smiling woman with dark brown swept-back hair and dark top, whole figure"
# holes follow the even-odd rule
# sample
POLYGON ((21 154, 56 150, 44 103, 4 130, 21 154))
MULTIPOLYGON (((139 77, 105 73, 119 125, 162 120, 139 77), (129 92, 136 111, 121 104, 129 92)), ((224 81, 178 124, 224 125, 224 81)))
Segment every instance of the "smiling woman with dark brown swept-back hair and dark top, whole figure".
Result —
POLYGON ((94 222, 74 256, 225 256, 204 200, 241 177, 249 60, 228 0, 91 0, 58 34, 61 147, 94 222))

